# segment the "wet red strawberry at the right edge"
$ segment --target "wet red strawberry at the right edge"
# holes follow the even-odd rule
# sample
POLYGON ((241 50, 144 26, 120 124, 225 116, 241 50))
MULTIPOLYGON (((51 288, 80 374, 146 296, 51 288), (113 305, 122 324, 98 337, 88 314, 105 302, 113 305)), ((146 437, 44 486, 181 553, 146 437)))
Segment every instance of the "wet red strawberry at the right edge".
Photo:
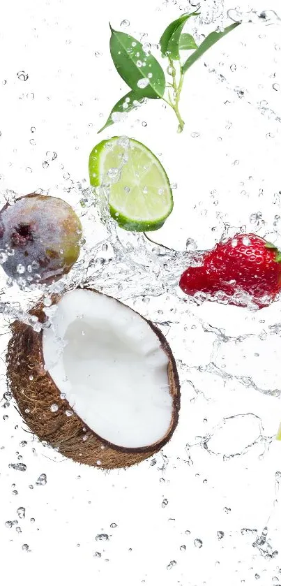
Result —
MULTIPOLYGON (((203 266, 185 270, 179 286, 188 295, 197 291, 209 295, 223 291, 229 296, 248 293, 261 308, 281 289, 281 253, 255 234, 237 234, 204 254, 203 266)), ((247 305, 243 298, 229 302, 247 305)))

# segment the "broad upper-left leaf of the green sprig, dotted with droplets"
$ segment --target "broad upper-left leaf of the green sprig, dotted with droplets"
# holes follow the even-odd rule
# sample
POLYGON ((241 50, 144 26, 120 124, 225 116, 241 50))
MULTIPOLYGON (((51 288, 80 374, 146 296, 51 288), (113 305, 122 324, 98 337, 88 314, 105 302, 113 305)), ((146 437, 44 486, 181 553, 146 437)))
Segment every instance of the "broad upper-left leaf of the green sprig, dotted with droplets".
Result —
POLYGON ((165 74, 157 59, 144 52, 142 43, 126 33, 112 31, 110 52, 114 65, 126 84, 145 98, 162 98, 165 74))

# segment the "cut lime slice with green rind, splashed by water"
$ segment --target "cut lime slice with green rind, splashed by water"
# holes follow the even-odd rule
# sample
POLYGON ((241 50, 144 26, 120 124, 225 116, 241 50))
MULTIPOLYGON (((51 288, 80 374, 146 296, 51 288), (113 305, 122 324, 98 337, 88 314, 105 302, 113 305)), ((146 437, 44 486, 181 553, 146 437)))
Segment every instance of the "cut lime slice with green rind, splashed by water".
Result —
POLYGON ((157 157, 141 142, 114 136, 89 158, 91 185, 109 184, 109 211, 125 230, 158 230, 173 209, 169 179, 157 157))

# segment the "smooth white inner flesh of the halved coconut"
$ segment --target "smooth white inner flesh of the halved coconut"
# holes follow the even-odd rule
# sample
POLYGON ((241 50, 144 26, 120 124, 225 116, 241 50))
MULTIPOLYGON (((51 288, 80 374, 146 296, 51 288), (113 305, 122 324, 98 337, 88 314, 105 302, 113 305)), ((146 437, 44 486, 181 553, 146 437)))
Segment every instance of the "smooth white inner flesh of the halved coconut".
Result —
POLYGON ((169 432, 169 358, 129 307, 94 291, 66 293, 43 332, 43 358, 59 392, 102 439, 142 448, 169 432))

